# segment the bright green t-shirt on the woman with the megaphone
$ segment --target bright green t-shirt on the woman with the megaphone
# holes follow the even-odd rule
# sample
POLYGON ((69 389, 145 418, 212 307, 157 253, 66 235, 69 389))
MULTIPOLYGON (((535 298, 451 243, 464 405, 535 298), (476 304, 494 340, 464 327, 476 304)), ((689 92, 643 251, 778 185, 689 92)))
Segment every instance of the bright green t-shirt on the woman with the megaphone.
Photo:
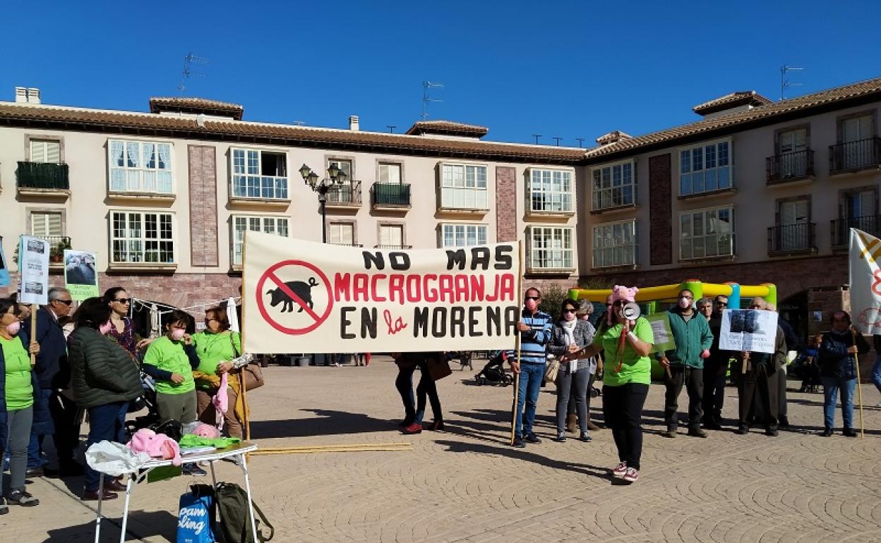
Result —
MULTIPOLYGON (((594 345, 602 347, 605 351, 603 374, 603 386, 620 386, 628 383, 650 385, 652 382, 652 362, 648 356, 639 356, 631 347, 630 342, 625 340, 623 357, 618 353, 618 338, 621 337, 622 325, 606 330, 603 334, 594 336, 594 345), (618 369, 621 362, 621 371, 618 369)), ((655 342, 655 334, 647 319, 637 319, 633 327, 633 334, 647 343, 655 342)))

